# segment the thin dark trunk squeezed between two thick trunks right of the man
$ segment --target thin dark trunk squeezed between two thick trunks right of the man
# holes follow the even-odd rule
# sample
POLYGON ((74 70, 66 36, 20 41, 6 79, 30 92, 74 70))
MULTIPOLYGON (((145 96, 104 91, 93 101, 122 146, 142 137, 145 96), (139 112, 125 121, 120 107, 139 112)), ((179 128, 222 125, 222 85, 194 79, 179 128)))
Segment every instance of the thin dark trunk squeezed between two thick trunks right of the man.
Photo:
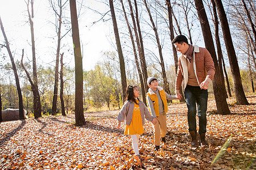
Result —
POLYGON ((217 46, 217 54, 218 54, 218 68, 220 69, 220 79, 221 82, 223 82, 224 90, 225 90, 225 97, 228 98, 228 95, 226 94, 226 87, 225 87, 225 80, 224 80, 224 75, 223 75, 223 70, 222 70, 222 50, 221 50, 221 43, 220 43, 220 36, 218 35, 218 16, 217 16, 217 10, 216 10, 216 5, 213 0, 211 0, 212 5, 213 5, 213 22, 215 26, 215 41, 216 41, 216 46, 217 46))

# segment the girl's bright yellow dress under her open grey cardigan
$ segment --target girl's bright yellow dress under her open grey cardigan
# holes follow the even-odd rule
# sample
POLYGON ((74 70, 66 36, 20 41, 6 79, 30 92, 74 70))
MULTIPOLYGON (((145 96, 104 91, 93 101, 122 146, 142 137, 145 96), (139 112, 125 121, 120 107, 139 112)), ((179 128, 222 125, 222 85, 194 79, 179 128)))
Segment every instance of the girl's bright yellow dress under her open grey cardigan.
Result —
MULTIPOLYGON (((136 100, 139 103, 139 100, 136 100)), ((133 117, 131 119, 131 124, 126 125, 125 134, 134 135, 134 134, 143 134, 144 129, 142 125, 141 111, 139 110, 139 104, 134 103, 133 117)))

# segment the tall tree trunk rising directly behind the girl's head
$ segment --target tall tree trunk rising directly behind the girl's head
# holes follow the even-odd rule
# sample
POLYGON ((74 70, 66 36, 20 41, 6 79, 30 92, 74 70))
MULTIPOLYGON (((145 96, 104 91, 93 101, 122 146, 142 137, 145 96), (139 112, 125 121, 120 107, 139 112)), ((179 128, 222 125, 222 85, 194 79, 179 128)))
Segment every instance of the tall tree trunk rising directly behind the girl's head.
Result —
POLYGON ((118 33, 117 20, 115 19, 113 0, 109 0, 109 5, 110 5, 110 12, 112 16, 112 22, 113 22, 114 33, 115 33, 115 42, 117 44, 117 52, 119 57, 121 82, 122 82, 122 90, 123 90, 123 103, 124 103, 126 100, 126 87, 127 87, 126 73, 125 73, 125 60, 123 59, 123 52, 122 52, 122 46, 121 46, 119 33, 118 33))

